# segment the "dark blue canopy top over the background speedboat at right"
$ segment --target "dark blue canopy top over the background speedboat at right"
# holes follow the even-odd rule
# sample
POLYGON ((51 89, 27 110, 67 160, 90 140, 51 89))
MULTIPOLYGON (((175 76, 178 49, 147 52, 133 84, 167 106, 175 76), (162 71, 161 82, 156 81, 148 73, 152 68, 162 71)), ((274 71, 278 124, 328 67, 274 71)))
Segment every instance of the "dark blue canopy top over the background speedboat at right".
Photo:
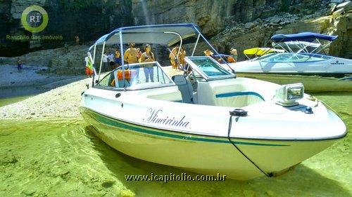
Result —
POLYGON ((276 34, 271 37, 271 40, 275 43, 287 42, 287 41, 308 41, 312 42, 315 39, 322 39, 326 41, 334 41, 337 36, 329 36, 325 34, 317 34, 312 32, 303 32, 298 34, 276 34))

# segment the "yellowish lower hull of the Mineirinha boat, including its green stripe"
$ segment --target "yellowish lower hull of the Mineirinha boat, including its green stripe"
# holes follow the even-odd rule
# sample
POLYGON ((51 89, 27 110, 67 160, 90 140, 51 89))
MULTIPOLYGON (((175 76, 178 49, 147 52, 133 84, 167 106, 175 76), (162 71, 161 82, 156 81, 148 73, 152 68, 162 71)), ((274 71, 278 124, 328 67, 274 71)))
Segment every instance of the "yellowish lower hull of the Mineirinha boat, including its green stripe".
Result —
POLYGON ((220 173, 232 179, 264 176, 260 170, 275 174, 335 142, 246 139, 232 139, 230 142, 227 137, 190 135, 135 125, 85 107, 81 107, 81 113, 87 123, 92 125, 92 132, 97 137, 123 154, 207 175, 220 173))

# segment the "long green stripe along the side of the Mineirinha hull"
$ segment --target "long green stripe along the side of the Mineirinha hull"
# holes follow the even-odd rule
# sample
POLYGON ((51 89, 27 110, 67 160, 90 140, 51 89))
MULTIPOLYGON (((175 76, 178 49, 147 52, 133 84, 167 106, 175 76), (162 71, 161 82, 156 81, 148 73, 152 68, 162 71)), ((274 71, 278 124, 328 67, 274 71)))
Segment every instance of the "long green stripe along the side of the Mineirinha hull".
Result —
MULTIPOLYGON (((144 133, 144 134, 149 134, 149 135, 157 135, 161 137, 170 137, 173 139, 179 139, 179 140, 191 140, 191 141, 200 141, 200 142, 215 142, 215 143, 225 143, 225 144, 231 144, 229 140, 216 140, 216 139, 210 139, 210 138, 203 138, 203 137, 191 137, 191 136, 184 136, 184 135, 175 135, 171 133, 165 133, 165 132, 173 132, 173 131, 168 131, 168 130, 160 130, 160 129, 154 129, 154 128, 149 128, 149 127, 144 127, 141 125, 134 125, 132 123, 126 123, 123 121, 118 121, 116 119, 110 118, 108 116, 103 116, 102 114, 98 114, 94 111, 91 111, 89 109, 84 109, 88 110, 89 114, 92 114, 92 117, 96 119, 96 121, 99 121, 100 123, 110 125, 116 128, 122 128, 126 130, 131 130, 134 132, 138 133, 144 133)), ((175 132, 174 132, 175 133, 175 132)), ((193 134, 188 134, 188 135, 193 135, 193 134)), ((234 141, 232 141, 234 142, 234 141)), ((234 142, 234 144, 241 144, 241 145, 252 145, 252 146, 270 146, 270 147, 286 147, 289 145, 284 145, 284 144, 262 144, 262 143, 253 143, 253 142, 234 142)))

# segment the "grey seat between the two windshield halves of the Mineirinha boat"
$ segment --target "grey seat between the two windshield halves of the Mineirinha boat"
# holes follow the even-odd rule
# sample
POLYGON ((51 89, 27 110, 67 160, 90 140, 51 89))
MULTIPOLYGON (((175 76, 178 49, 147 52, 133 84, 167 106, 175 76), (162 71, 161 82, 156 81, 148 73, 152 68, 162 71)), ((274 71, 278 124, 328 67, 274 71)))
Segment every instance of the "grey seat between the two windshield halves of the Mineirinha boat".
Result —
POLYGON ((184 103, 194 103, 193 101, 193 88, 191 82, 186 79, 182 74, 172 76, 172 81, 174 81, 180 90, 182 95, 182 102, 184 103))

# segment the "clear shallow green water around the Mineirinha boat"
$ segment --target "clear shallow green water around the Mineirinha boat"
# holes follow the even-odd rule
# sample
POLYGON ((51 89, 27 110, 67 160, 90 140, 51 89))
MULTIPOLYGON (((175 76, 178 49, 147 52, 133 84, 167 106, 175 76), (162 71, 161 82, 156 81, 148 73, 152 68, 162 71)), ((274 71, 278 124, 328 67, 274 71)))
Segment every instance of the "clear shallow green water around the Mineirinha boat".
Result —
MULTIPOLYGON (((352 94, 316 94, 352 128, 352 94)), ((279 177, 247 182, 127 182, 177 168, 120 154, 81 118, 1 121, 0 196, 352 196, 351 135, 279 177)), ((279 161, 278 161, 279 162, 279 161)), ((187 172, 189 175, 195 175, 187 172)))

